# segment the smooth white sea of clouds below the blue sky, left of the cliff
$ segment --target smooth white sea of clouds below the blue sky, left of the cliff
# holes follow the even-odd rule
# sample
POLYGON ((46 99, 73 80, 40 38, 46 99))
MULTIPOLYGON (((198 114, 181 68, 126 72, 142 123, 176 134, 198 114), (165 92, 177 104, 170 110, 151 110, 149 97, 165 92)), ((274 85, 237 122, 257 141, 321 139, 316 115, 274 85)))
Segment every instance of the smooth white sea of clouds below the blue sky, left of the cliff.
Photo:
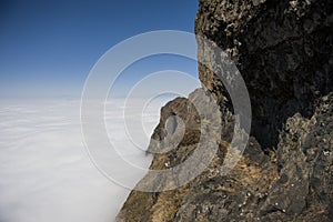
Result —
MULTIPOLYGON (((148 147, 164 98, 144 110, 127 108, 142 118, 148 147)), ((107 103, 105 125, 127 161, 148 168, 151 157, 125 131, 122 100, 107 103)), ((128 125, 131 125, 129 118, 128 125)), ((85 150, 79 100, 1 101, 0 222, 110 222, 130 190, 108 180, 85 150)), ((109 157, 110 163, 112 158, 109 157)), ((120 173, 128 173, 121 172, 120 173)), ((142 175, 133 176, 138 182, 142 175)))

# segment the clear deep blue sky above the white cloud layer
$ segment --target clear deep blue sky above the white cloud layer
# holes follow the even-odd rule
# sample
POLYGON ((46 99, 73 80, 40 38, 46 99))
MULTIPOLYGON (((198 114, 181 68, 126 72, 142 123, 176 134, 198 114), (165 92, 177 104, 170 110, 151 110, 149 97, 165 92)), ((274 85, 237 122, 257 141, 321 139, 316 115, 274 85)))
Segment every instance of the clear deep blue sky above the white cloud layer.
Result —
MULTIPOLYGON (((196 0, 0 0, 0 98, 80 97, 112 46, 153 30, 193 32, 196 9, 196 0)), ((141 70, 196 75, 195 61, 164 56, 144 62, 141 70)))

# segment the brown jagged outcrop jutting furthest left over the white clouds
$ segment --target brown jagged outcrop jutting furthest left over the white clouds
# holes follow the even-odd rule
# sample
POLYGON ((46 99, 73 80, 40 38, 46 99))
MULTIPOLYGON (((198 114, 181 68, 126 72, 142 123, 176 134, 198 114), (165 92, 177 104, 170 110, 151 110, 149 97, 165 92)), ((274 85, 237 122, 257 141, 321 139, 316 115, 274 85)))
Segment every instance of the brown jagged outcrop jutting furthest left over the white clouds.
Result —
MULTIPOLYGON (((193 154, 193 150, 198 148, 198 144, 201 141, 201 127, 202 124, 204 125, 202 121, 208 121, 211 118, 215 119, 215 117, 200 117, 198 110, 193 105, 193 102, 196 102, 196 105, 200 105, 200 103, 203 102, 202 93, 204 93, 203 89, 198 89, 190 94, 189 99, 178 98, 162 108, 160 123, 152 135, 154 142, 150 143, 148 152, 154 152, 157 148, 152 148, 153 145, 157 145, 160 150, 167 150, 167 152, 154 154, 154 159, 150 165, 151 170, 173 168, 184 162, 193 154), (172 145, 175 147, 173 147, 172 150, 168 150, 168 147, 170 145, 169 143, 157 143, 157 141, 162 141, 168 137, 165 125, 168 119, 173 115, 178 115, 183 120, 185 132, 180 143, 172 143, 172 145)), ((216 113, 216 111, 214 111, 214 107, 208 107, 208 113, 212 113, 212 115, 214 115, 213 113, 216 113)), ((219 107, 216 107, 216 109, 219 109, 219 107)), ((221 119, 221 117, 219 118, 221 119)), ((206 147, 206 149, 209 149, 209 144, 203 144, 206 147)), ((226 142, 221 142, 221 150, 223 150, 223 144, 225 145, 226 142)), ((199 181, 203 180, 203 178, 219 174, 218 165, 220 165, 219 163, 222 162, 223 158, 221 150, 218 150, 216 157, 210 163, 210 167, 205 169, 201 175, 196 176, 190 184, 199 183, 199 181)), ((198 165, 192 165, 191 168, 194 169, 198 168, 198 165)), ((182 173, 181 170, 179 174, 182 173)), ((172 178, 172 175, 170 175, 170 178, 172 178)), ((151 179, 145 176, 142 179, 142 181, 140 181, 139 185, 155 184, 157 186, 165 188, 168 186, 168 179, 159 180, 155 178, 151 179)), ((174 179, 171 181, 175 182, 174 179)), ((132 191, 118 215, 118 221, 171 221, 175 216, 182 198, 188 191, 189 184, 184 184, 179 189, 164 192, 149 193, 132 191)))

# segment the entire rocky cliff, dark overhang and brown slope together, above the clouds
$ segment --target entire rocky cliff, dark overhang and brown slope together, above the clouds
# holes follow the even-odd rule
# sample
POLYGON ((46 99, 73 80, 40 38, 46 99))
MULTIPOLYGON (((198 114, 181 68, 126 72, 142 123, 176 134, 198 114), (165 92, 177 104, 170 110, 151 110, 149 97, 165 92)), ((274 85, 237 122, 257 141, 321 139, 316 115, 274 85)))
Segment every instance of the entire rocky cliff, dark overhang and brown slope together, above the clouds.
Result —
MULTIPOLYGON (((235 168, 222 176, 220 169, 230 154, 233 134, 233 110, 212 68, 199 64, 200 79, 222 111, 214 159, 179 189, 132 191, 118 220, 332 221, 332 1, 201 0, 195 32, 225 50, 245 80, 253 113, 248 148, 235 168)), ((199 57, 219 65, 219 54, 200 40, 199 57)), ((173 150, 154 154, 151 169, 173 168, 193 153, 203 120, 190 101, 202 91, 162 108, 152 138, 167 137, 170 115, 184 121, 185 132, 173 150)), ((163 145, 151 143, 149 151, 159 149, 163 145)), ((145 179, 140 183, 168 185, 145 179)))

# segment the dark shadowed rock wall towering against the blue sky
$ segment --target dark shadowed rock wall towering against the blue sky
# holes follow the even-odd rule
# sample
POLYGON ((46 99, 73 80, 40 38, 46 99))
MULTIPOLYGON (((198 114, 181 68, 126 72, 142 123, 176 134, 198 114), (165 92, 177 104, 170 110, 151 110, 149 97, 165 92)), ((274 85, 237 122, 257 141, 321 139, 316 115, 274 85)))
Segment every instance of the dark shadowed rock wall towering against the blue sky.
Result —
MULTIPOLYGON (((278 144, 286 118, 311 117, 314 101, 333 89, 331 0, 202 0, 195 24, 196 34, 238 64, 251 98, 252 134, 264 147, 278 144)), ((208 47, 199 47, 199 56, 219 63, 208 47)), ((200 64, 199 74, 228 95, 209 68, 200 64)))

